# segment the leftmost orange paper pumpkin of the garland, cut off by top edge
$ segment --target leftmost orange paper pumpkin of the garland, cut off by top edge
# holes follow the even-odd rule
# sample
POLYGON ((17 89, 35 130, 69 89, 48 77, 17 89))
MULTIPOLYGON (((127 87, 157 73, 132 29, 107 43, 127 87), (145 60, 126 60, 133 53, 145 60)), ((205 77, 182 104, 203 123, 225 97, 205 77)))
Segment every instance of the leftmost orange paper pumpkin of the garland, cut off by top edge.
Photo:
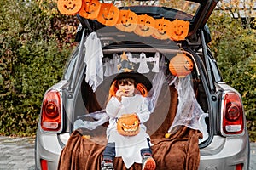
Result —
POLYGON ((81 0, 58 0, 58 9, 61 14, 77 14, 82 7, 81 0))

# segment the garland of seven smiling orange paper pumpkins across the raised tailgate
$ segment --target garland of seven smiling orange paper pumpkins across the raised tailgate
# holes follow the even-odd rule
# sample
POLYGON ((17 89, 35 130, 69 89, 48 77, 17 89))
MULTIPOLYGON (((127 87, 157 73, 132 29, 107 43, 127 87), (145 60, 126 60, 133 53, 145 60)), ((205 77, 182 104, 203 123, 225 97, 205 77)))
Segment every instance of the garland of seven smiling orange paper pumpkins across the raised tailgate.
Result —
POLYGON ((58 0, 57 7, 61 14, 79 14, 85 19, 97 20, 102 25, 115 26, 120 31, 134 32, 142 37, 182 41, 189 32, 189 21, 154 19, 148 14, 119 10, 113 3, 98 0, 58 0))

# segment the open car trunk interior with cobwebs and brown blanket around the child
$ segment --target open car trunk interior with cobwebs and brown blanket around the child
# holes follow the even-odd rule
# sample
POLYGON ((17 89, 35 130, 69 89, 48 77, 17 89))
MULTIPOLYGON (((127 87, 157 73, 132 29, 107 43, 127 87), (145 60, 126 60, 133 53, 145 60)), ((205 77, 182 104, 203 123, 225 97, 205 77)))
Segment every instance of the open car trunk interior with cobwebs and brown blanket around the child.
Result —
MULTIPOLYGON (((107 144, 108 127, 108 119, 104 121, 104 117, 101 116, 106 107, 110 84, 113 77, 118 74, 111 69, 113 65, 120 63, 124 53, 129 54, 128 58, 133 60, 135 71, 148 71, 143 75, 152 82, 154 95, 157 96, 151 107, 153 109, 150 119, 145 123, 147 133, 154 144, 152 150, 157 169, 198 169, 199 145, 209 136, 207 119, 205 119, 208 116, 207 98, 198 69, 201 58, 184 48, 183 54, 193 60, 194 67, 186 77, 176 77, 170 73, 168 67, 170 60, 181 52, 176 43, 172 41, 155 43, 155 45, 151 43, 149 46, 143 45, 143 42, 127 44, 131 42, 118 41, 103 48, 104 77, 95 92, 89 83, 85 82, 87 68, 84 65, 84 71, 81 71, 75 90, 77 99, 73 106, 74 131, 61 152, 60 169, 100 169, 102 151, 107 144), (165 48, 167 46, 168 48, 165 48), (148 68, 142 69, 143 62, 137 62, 142 59, 142 54, 145 54, 143 55, 146 56, 145 60, 148 59, 148 68), (115 59, 119 62, 115 63, 115 59), (198 122, 204 128, 196 126, 198 122)), ((85 53, 82 54, 84 55, 85 53)), ((114 167, 125 169, 120 157, 115 158, 114 167)), ((140 168, 141 164, 137 163, 131 167, 131 169, 140 168)))

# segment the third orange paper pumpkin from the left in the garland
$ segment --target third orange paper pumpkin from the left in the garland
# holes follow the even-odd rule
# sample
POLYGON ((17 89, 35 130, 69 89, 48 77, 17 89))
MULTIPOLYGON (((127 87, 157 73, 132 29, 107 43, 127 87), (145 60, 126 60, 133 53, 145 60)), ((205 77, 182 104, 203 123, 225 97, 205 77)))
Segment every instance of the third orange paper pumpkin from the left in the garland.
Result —
POLYGON ((114 26, 119 20, 119 8, 112 3, 102 3, 97 20, 105 26, 114 26))

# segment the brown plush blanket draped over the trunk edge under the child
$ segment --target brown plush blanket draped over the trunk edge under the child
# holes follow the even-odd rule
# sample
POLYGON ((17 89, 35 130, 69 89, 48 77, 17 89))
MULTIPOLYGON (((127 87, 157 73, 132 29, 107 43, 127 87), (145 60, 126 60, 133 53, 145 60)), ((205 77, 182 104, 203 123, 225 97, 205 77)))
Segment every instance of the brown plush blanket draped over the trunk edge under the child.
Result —
MULTIPOLYGON (((168 115, 162 126, 151 135, 153 156, 156 161, 156 169, 168 170, 196 170, 200 163, 200 152, 198 139, 201 133, 181 127, 170 139, 165 139, 164 135, 171 126, 177 111, 177 91, 170 87, 172 99, 168 115)), ((61 151, 58 169, 101 169, 102 151, 105 145, 95 143, 84 138, 79 131, 74 131, 61 151)), ((115 169, 126 169, 121 158, 115 158, 113 162, 115 169)), ((135 163, 130 170, 141 169, 142 165, 135 163)))

